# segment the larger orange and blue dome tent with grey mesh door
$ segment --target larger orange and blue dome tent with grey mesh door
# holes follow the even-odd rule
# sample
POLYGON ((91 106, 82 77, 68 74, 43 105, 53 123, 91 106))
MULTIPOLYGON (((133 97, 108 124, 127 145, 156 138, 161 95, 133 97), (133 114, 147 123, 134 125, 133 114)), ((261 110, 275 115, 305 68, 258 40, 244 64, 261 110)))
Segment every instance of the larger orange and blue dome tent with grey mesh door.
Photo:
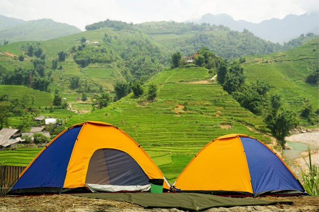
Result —
POLYGON ((149 179, 164 178, 124 131, 88 121, 52 139, 23 170, 9 194, 148 191, 149 179))

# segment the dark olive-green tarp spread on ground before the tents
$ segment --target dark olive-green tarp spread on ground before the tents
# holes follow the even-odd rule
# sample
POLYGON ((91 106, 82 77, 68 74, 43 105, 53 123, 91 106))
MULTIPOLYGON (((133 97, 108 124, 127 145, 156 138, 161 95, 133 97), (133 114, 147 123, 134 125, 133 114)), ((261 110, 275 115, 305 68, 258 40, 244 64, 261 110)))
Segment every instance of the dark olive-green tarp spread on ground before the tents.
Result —
POLYGON ((211 207, 234 207, 248 205, 292 204, 292 201, 265 201, 258 199, 220 197, 195 193, 85 193, 73 194, 79 197, 109 199, 135 203, 146 208, 177 208, 180 210, 200 211, 211 207))

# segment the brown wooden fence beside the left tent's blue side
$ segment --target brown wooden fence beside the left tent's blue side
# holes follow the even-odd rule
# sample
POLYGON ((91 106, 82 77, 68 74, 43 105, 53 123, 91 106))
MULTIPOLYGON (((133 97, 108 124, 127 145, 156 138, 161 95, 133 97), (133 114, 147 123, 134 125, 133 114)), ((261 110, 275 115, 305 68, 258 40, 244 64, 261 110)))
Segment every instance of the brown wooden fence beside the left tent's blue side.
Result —
POLYGON ((26 166, 0 166, 0 196, 10 191, 25 167, 26 166))

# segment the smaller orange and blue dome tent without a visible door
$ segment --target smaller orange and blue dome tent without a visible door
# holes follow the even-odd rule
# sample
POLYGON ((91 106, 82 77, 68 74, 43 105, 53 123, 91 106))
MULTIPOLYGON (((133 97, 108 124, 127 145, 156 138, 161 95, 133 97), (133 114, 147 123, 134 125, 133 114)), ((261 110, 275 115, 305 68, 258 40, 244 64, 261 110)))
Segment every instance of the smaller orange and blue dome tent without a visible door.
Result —
POLYGON ((305 194, 296 175, 271 148, 243 134, 209 142, 173 185, 181 192, 222 196, 305 194))

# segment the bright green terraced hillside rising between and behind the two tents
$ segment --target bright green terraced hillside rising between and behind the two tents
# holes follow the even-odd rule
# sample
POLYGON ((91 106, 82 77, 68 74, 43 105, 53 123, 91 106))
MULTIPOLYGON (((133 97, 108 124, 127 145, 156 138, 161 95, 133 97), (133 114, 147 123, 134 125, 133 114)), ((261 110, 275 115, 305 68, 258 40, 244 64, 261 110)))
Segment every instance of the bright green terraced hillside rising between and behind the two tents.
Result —
POLYGON ((67 125, 99 120, 123 129, 170 180, 219 136, 243 133, 270 143, 269 137, 258 132, 265 128, 261 117, 240 107, 218 83, 207 79, 211 76, 205 68, 164 70, 148 81, 158 86, 156 101, 129 94, 107 108, 72 116, 67 125))

